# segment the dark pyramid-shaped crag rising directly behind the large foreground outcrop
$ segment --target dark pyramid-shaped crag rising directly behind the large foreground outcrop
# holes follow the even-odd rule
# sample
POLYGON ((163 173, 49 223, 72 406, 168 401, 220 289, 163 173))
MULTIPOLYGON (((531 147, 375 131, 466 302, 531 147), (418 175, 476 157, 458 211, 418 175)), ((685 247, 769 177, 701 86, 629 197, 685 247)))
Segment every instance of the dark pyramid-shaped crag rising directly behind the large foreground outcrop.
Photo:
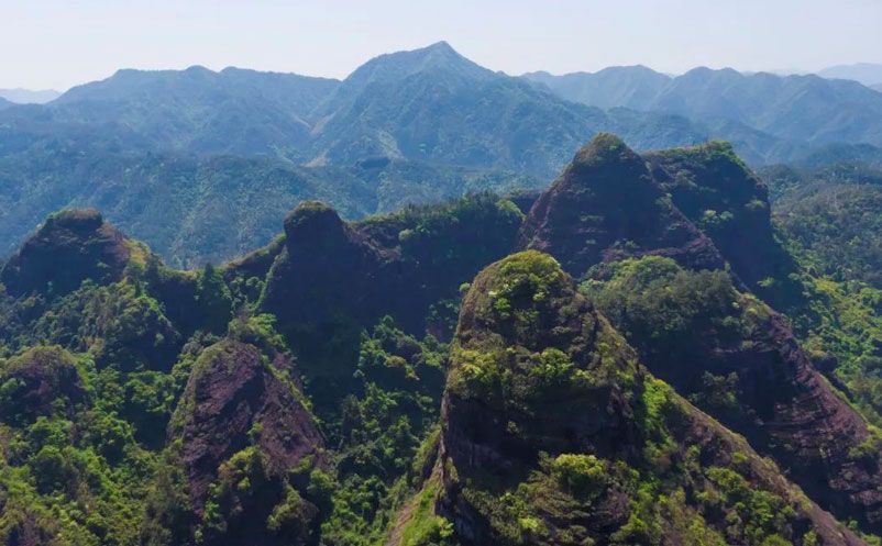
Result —
POLYGON ((547 252, 576 277, 626 256, 670 256, 720 268, 714 244, 671 203, 646 161, 611 134, 580 149, 530 210, 519 248, 547 252))

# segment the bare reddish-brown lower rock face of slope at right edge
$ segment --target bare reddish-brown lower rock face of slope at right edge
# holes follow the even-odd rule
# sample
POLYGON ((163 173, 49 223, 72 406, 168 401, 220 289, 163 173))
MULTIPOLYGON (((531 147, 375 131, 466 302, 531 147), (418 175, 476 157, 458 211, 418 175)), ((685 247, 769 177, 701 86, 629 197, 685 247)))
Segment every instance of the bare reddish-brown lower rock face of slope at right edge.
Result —
POLYGON ((739 411, 707 411, 774 458, 823 508, 882 533, 882 453, 858 454, 872 442, 867 422, 813 368, 784 319, 769 310, 747 338, 696 332, 693 342, 687 352, 646 350, 646 363, 684 395, 706 390, 704 372, 737 374, 739 411))

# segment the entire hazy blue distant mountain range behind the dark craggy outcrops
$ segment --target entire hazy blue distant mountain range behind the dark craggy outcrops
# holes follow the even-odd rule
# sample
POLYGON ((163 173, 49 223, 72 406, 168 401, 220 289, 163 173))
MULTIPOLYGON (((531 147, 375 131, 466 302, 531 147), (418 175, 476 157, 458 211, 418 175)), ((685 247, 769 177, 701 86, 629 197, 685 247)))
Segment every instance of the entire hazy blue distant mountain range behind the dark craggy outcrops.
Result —
POLYGON ((266 243, 300 199, 355 219, 536 187, 599 132, 638 151, 728 140, 754 166, 862 160, 882 157, 882 93, 707 68, 511 77, 444 42, 382 55, 342 81, 125 69, 46 104, 0 99, 2 252, 54 210, 96 205, 191 266, 266 243), (222 227, 209 204, 223 208, 222 227))

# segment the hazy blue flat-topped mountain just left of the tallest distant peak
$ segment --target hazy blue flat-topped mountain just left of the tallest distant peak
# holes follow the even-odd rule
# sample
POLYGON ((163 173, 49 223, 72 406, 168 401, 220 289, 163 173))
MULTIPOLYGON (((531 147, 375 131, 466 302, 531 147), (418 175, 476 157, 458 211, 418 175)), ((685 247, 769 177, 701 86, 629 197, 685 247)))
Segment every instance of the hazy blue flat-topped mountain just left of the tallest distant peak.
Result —
POLYGON ((107 127, 143 149, 304 157, 307 115, 337 81, 202 67, 120 70, 76 87, 40 115, 48 129, 107 127))

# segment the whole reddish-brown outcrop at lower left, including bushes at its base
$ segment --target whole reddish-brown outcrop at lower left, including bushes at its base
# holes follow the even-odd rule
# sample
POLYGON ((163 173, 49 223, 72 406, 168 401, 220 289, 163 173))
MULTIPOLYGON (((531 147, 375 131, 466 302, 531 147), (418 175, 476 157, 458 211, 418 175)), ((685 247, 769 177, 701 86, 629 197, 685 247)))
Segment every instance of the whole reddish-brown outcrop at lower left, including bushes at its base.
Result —
POLYGON ((283 353, 238 339, 206 348, 194 366, 168 434, 180 441, 197 528, 209 544, 312 541, 319 510, 290 475, 328 463, 291 372, 283 353), (294 523, 271 528, 268 519, 291 497, 294 523), (217 512, 225 519, 220 527, 217 512))

